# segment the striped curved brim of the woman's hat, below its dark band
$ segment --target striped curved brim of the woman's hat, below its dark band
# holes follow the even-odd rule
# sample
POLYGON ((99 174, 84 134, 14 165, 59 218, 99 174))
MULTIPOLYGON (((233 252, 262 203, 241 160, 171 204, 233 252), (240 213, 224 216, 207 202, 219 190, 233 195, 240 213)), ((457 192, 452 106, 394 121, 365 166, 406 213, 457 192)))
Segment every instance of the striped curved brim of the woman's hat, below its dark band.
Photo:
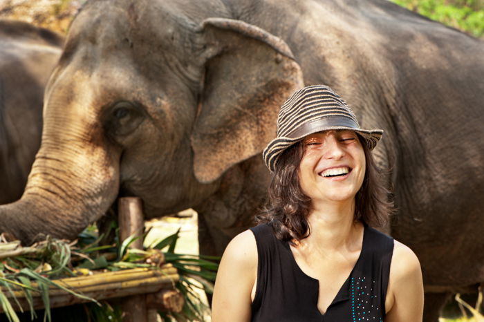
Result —
POLYGON ((329 130, 350 130, 354 131, 355 133, 360 135, 360 138, 363 139, 364 142, 362 144, 366 144, 368 146, 369 150, 373 150, 382 138, 383 130, 380 129, 373 129, 373 130, 364 130, 364 129, 355 129, 352 127, 348 126, 322 126, 322 128, 318 127, 313 127, 312 131, 309 133, 304 133, 301 135, 298 135, 295 138, 288 138, 288 137, 279 137, 275 138, 271 142, 269 142, 268 146, 266 146, 266 149, 264 149, 262 153, 262 158, 264 162, 266 163, 266 166, 271 172, 274 172, 277 161, 279 160, 279 157, 282 155, 286 149, 288 149, 290 146, 293 144, 301 141, 302 139, 306 138, 306 136, 313 134, 313 133, 318 133, 322 131, 329 131, 329 130))

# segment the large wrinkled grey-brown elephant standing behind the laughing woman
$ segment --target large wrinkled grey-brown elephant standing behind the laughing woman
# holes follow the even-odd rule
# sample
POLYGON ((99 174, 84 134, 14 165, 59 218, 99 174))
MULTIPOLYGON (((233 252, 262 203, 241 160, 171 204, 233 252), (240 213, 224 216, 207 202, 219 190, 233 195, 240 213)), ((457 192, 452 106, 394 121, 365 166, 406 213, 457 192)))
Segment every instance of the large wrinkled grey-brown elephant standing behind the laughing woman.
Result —
POLYGON ((148 218, 196 209, 201 252, 221 254, 265 198, 279 105, 328 84, 385 130, 389 229, 420 258, 437 321, 446 292, 484 281, 483 79, 481 41, 387 1, 92 1, 0 228, 73 238, 118 194, 140 196, 148 218))

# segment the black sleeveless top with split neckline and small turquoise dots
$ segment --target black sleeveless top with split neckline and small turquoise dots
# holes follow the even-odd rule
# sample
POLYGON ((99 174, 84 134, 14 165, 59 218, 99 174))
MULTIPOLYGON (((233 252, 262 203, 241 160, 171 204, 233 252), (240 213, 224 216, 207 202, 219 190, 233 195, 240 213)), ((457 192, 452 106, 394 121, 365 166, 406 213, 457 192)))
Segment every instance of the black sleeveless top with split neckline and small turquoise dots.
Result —
POLYGON ((321 314, 317 309, 319 281, 302 272, 289 243, 278 240, 268 224, 250 230, 259 253, 252 321, 383 321, 393 238, 364 225, 360 257, 321 314))

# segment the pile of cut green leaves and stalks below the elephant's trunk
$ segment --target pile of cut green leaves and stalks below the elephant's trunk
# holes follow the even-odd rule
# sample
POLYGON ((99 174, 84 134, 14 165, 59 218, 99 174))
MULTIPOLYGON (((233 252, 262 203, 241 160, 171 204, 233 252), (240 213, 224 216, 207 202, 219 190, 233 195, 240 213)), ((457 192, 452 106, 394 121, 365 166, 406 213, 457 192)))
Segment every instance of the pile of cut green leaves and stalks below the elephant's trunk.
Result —
MULTIPOLYGON (((3 312, 10 322, 34 321, 38 319, 38 315, 43 315, 44 322, 59 321, 58 317, 53 319, 49 298, 49 289, 57 287, 89 301, 66 307, 65 310, 70 311, 69 321, 121 321, 119 301, 96 301, 64 287, 62 283, 56 283, 56 280, 89 276, 93 272, 115 272, 140 267, 161 269, 169 263, 178 270, 179 280, 174 283, 174 287, 183 295, 185 301, 181 312, 158 312, 162 321, 204 321, 205 317, 210 315, 210 308, 201 301, 199 294, 200 291, 212 293, 218 258, 176 254, 174 249, 178 233, 179 230, 167 238, 156 241, 146 250, 129 247, 137 239, 134 237, 127 238, 121 244, 117 242, 116 237, 114 243, 101 245, 100 241, 104 235, 100 236, 93 225, 71 243, 47 236, 35 245, 22 247, 18 240, 8 242, 2 236, 0 304, 3 312), (18 294, 26 299, 30 312, 24 313, 17 300, 18 294), (45 309, 36 312, 32 299, 37 294, 40 294, 45 309)), ((66 319, 62 318, 62 321, 66 319)))

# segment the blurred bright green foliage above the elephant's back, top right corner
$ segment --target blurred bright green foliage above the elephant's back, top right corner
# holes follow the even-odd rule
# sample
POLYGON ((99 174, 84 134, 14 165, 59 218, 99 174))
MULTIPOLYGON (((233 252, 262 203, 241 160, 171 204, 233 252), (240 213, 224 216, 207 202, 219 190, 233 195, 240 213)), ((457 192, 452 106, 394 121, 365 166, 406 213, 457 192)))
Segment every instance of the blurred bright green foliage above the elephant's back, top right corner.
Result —
POLYGON ((484 0, 391 0, 398 5, 484 39, 484 0))

